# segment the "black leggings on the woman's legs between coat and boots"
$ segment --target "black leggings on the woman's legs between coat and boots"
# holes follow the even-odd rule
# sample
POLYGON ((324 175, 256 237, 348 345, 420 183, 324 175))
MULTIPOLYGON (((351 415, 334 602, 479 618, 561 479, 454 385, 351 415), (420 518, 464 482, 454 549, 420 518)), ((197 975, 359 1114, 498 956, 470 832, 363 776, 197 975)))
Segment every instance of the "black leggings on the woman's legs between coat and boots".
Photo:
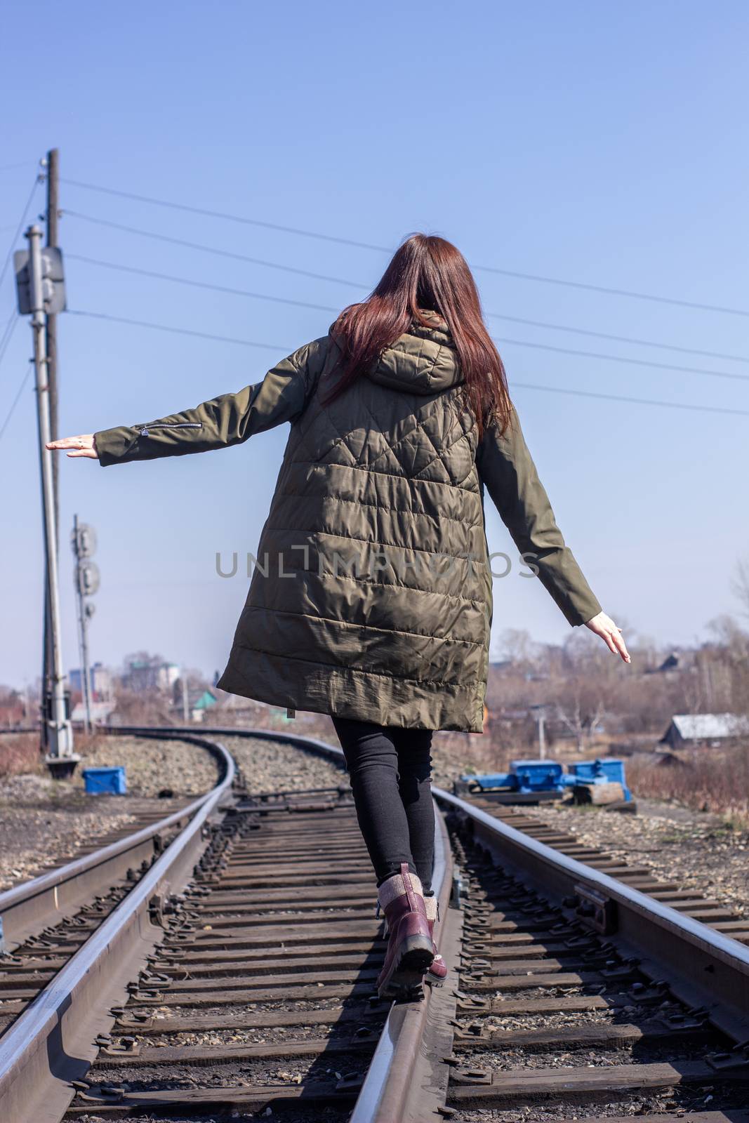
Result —
POLYGON ((334 718, 346 757, 356 816, 381 885, 408 862, 431 888, 435 807, 431 730, 396 729, 334 718))

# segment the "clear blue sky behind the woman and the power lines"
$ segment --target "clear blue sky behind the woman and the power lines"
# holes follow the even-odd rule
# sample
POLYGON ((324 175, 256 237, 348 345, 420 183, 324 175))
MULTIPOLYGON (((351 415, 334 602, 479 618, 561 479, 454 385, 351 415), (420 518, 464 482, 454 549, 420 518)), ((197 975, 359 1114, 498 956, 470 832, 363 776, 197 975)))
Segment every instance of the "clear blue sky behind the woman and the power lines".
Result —
MULTIPOLYGON (((487 322, 500 339, 528 442, 604 608, 630 634, 664 643, 704 636, 711 619, 736 611, 732 572, 749 553, 749 416, 522 384, 749 411, 749 319, 478 266, 749 309, 747 24, 738 0, 709 8, 641 0, 375 7, 136 0, 127 7, 42 2, 33 15, 28 6, 7 3, 2 257, 36 163, 57 146, 72 311, 267 345, 65 314, 62 435, 157 418, 254 383, 323 335, 335 316, 76 256, 332 309, 364 296, 387 261, 382 250, 66 181, 389 248, 417 229, 440 234, 476 267, 484 308, 496 313, 487 322), (43 64, 33 69, 35 48, 43 64), (91 218, 338 280, 157 241, 91 218), (555 347, 645 365, 545 349, 555 347)), ((42 209, 39 192, 31 214, 42 209)), ((6 277, 0 334, 13 301, 6 277)), ((0 426, 29 355, 30 331, 20 322, 0 365, 0 426)), ((220 454, 104 471, 95 462, 61 463, 66 666, 77 665, 67 546, 76 512, 95 526, 100 542, 93 657, 116 664, 147 648, 209 674, 223 669, 247 579, 219 578, 214 556, 255 549, 285 437, 281 429, 220 454)), ((30 380, 0 439, 0 682, 20 686, 40 664, 30 380)), ((494 513, 487 530, 492 549, 512 553, 494 513)), ((569 633, 538 583, 511 575, 494 591, 495 637, 503 628, 527 628, 542 640, 569 633)))

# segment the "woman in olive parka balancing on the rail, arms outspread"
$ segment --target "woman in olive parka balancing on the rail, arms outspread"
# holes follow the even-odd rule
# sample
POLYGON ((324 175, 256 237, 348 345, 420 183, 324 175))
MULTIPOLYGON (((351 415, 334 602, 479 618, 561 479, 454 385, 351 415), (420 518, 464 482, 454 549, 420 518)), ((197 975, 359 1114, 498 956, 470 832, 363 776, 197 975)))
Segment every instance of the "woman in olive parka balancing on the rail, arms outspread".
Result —
POLYGON ((433 730, 483 729, 484 489, 568 622, 629 655, 557 528, 450 243, 410 237, 367 300, 261 382, 47 447, 108 466, 228 448, 284 421, 261 565, 218 686, 331 715, 389 926, 377 987, 398 994, 446 975, 430 747, 433 730))

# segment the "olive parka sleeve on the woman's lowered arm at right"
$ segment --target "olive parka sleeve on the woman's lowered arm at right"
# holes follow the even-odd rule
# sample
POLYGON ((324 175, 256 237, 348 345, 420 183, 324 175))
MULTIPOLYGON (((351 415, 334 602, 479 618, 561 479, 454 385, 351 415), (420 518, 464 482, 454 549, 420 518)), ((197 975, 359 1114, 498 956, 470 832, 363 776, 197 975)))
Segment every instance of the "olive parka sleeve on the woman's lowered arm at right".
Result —
POLYGON ((487 423, 476 466, 512 540, 567 621, 587 623, 601 605, 565 545, 514 410, 504 432, 495 420, 487 423))

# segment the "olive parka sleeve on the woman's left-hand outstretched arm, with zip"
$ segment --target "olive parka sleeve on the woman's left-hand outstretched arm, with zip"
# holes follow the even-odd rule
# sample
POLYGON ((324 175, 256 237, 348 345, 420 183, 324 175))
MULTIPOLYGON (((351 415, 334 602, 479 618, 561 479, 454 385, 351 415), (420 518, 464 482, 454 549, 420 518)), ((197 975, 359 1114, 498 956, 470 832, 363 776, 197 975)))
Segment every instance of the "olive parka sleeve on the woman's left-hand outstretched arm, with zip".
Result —
POLYGON ((293 421, 304 410, 325 360, 327 337, 300 347, 265 377, 234 394, 156 421, 116 426, 94 433, 99 463, 128 464, 240 445, 253 433, 293 421))

